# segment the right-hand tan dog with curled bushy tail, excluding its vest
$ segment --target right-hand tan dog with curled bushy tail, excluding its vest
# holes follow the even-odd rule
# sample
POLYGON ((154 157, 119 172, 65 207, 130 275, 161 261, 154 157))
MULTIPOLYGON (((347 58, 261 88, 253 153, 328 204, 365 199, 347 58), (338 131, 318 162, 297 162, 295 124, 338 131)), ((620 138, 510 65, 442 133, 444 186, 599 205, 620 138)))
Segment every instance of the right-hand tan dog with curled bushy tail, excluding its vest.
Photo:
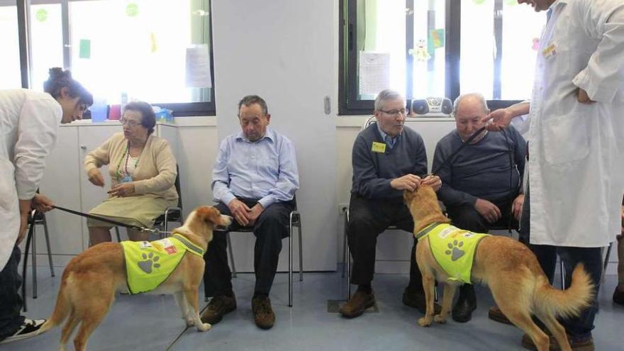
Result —
MULTIPOLYGON (((420 186, 413 192, 406 191, 403 199, 413 216, 415 235, 433 223, 449 223, 430 186, 420 186)), ((423 274, 427 303, 425 317, 420 318, 418 324, 429 326, 432 321, 445 323, 458 284, 449 281, 449 275, 435 260, 428 236, 418 240, 416 262, 423 274), (444 282, 445 287, 442 311, 433 316, 435 280, 444 282)), ((533 252, 522 243, 504 236, 490 235, 479 242, 474 252, 471 279, 473 283, 488 284, 501 311, 513 324, 530 335, 539 351, 548 351, 550 342, 531 319, 532 313, 555 336, 561 350, 570 351, 572 349, 565 330, 557 317, 578 316, 594 297, 593 285, 582 264, 574 269, 572 284, 568 289, 555 289, 548 282, 533 252)))

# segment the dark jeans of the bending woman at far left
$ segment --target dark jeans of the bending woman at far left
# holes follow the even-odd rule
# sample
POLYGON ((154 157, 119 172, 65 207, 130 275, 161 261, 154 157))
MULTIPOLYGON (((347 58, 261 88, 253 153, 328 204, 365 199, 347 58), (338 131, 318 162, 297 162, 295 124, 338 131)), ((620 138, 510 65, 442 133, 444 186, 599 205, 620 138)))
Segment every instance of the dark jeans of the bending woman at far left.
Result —
POLYGON ((22 277, 18 274, 20 261, 19 247, 13 247, 9 262, 0 272, 0 341, 13 335, 24 321, 20 311, 22 296, 18 294, 22 277))

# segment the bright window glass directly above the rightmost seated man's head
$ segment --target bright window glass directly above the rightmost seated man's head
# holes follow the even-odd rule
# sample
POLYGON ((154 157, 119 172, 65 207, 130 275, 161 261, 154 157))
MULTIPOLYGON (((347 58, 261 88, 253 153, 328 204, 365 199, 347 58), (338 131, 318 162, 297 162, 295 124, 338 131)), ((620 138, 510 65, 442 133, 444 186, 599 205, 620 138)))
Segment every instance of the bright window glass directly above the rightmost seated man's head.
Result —
POLYGON ((515 0, 462 1, 460 91, 478 91, 486 99, 528 99, 533 88, 537 42, 546 16, 515 0), (495 9, 499 1, 500 9, 495 9), (496 28, 495 18, 502 25, 496 28), (498 33, 496 31, 498 30, 498 33), (501 38, 500 47, 496 36, 501 38), (501 71, 494 77, 500 55, 501 71), (495 79, 500 91, 495 94, 495 79))

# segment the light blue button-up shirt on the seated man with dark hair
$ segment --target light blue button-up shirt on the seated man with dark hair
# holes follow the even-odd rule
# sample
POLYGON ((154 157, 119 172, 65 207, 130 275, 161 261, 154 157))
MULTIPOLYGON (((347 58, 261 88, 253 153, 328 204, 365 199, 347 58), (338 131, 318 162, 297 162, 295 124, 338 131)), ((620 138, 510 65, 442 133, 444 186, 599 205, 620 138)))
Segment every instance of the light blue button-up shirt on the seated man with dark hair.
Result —
POLYGON ((239 197, 264 207, 290 201, 299 189, 295 148, 271 128, 252 142, 243 133, 228 135, 219 146, 212 173, 213 197, 229 204, 239 197))

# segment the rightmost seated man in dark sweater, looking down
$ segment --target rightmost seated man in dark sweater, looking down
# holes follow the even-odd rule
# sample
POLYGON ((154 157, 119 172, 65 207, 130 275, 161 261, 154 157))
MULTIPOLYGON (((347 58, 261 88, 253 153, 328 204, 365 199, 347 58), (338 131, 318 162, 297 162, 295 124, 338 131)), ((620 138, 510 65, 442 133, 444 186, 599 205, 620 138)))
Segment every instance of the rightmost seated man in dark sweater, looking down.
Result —
MULTIPOLYGON (((457 129, 440 139, 433 155, 433 169, 443 165, 438 172, 442 178, 438 199, 446 206, 453 225, 475 233, 487 233, 492 227, 517 228, 524 201, 520 184, 526 142, 513 126, 501 133, 481 133, 449 159, 464 140, 484 126, 481 119, 488 113, 481 94, 459 96, 454 105, 457 129)), ((475 308, 474 287, 464 284, 452 318, 465 323, 475 308)), ((499 313, 498 308, 491 309, 492 313, 499 313)))

